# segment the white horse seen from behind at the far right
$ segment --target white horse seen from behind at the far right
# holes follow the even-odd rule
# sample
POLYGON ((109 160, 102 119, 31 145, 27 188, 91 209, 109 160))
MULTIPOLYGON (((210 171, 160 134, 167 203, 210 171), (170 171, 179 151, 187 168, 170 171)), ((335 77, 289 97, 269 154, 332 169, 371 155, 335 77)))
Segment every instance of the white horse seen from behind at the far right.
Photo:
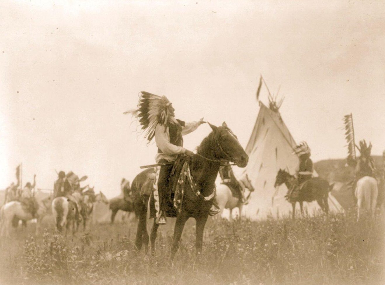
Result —
POLYGON ((358 213, 357 221, 362 212, 370 211, 372 219, 374 218, 378 195, 377 180, 370 176, 364 176, 357 181, 355 196, 357 197, 358 213))

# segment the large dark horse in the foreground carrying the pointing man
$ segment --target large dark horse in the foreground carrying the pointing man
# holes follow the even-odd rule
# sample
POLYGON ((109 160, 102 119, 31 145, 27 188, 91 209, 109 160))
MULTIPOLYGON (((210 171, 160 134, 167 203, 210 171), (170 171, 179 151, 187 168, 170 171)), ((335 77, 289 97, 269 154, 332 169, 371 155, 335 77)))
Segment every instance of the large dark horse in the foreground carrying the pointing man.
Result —
MULTIPOLYGON (((191 176, 194 179, 194 185, 197 192, 192 190, 188 182, 184 184, 184 196, 181 201, 181 208, 176 217, 174 228, 174 238, 171 247, 171 260, 174 258, 181 239, 184 224, 190 217, 196 220, 196 253, 200 254, 203 245, 203 230, 208 219, 209 210, 213 205, 215 180, 218 176, 221 162, 231 161, 239 167, 246 167, 249 157, 244 151, 237 137, 228 128, 226 123, 216 127, 209 124, 212 132, 203 139, 198 147, 197 154, 191 156, 189 162, 191 176)), ((139 224, 136 233, 135 245, 138 250, 142 244, 146 250, 148 246, 148 234, 146 232, 146 212, 147 204, 141 197, 141 187, 146 187, 149 176, 153 169, 147 169, 135 177, 132 183, 132 195, 136 212, 139 215, 139 224), (137 187, 138 186, 138 187, 137 187)), ((151 251, 154 252, 156 232, 159 225, 155 223, 151 231, 151 251)))

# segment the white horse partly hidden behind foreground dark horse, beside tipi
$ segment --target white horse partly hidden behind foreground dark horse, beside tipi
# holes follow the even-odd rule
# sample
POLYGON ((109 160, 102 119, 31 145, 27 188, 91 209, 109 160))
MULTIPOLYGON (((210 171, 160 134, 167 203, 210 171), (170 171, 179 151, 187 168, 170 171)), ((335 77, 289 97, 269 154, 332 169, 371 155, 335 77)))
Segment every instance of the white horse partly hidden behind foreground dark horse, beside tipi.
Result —
POLYGON ((216 192, 216 201, 218 203, 219 208, 221 208, 221 213, 224 209, 229 209, 229 219, 233 220, 232 211, 234 208, 238 207, 239 209, 239 219, 241 219, 241 213, 242 213, 242 207, 243 205, 248 204, 250 199, 251 192, 254 192, 254 187, 251 185, 251 181, 249 180, 248 175, 243 176, 242 179, 239 180, 239 184, 242 188, 242 195, 244 197, 245 189, 247 188, 249 190, 249 194, 245 199, 245 202, 243 203, 238 197, 234 197, 231 189, 226 184, 220 184, 217 186, 217 192, 216 192))

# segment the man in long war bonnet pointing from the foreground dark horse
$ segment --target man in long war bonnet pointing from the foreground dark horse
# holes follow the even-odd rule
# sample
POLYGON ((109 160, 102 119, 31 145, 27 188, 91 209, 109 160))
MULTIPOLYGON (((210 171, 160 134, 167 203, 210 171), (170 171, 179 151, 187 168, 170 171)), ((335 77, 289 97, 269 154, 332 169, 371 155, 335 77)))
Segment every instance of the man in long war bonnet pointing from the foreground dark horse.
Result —
POLYGON ((155 160, 157 163, 164 163, 159 171, 158 191, 160 214, 157 224, 166 224, 165 206, 169 189, 169 177, 173 164, 178 155, 193 155, 183 147, 182 136, 195 131, 199 125, 206 123, 203 118, 196 122, 185 123, 175 118, 175 109, 166 96, 157 96, 145 91, 141 92, 138 108, 131 113, 140 118, 139 122, 145 131, 148 142, 155 138, 158 147, 155 160))

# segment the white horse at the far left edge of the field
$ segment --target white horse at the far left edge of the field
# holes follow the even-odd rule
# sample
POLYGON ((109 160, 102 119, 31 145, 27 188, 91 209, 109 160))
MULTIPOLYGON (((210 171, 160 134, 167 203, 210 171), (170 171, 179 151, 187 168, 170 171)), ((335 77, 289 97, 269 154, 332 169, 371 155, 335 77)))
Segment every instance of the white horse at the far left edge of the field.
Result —
POLYGON ((47 214, 49 210, 51 197, 47 197, 42 200, 37 199, 37 210, 35 217, 32 217, 32 214, 25 210, 22 203, 19 201, 11 201, 3 205, 0 209, 0 225, 1 233, 0 236, 9 236, 9 229, 13 225, 14 227, 18 225, 19 220, 28 221, 36 219, 36 234, 40 231, 40 222, 47 214))

